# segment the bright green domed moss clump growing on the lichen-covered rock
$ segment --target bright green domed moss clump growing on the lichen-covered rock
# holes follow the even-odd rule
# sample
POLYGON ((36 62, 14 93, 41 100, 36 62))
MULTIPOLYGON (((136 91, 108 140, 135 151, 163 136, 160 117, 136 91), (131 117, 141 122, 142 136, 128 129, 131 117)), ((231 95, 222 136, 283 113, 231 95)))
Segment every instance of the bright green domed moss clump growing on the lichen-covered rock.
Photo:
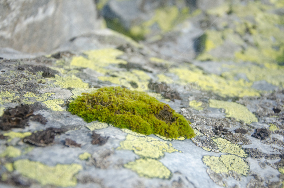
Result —
POLYGON ((189 122, 167 104, 145 93, 121 87, 104 87, 93 93, 82 93, 69 104, 68 111, 86 122, 99 120, 144 135, 159 134, 166 138, 195 136, 189 122))

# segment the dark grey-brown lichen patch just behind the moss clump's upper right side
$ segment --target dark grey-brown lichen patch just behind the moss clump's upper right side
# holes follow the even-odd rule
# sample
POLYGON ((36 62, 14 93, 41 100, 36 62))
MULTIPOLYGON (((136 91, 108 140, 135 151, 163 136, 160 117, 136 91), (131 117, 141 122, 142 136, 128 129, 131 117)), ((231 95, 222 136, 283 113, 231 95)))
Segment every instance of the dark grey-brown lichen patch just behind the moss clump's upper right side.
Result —
POLYGON ((171 87, 164 82, 152 82, 149 81, 149 90, 161 94, 165 99, 169 99, 174 102, 175 99, 181 100, 179 93, 176 90, 171 90, 171 87))

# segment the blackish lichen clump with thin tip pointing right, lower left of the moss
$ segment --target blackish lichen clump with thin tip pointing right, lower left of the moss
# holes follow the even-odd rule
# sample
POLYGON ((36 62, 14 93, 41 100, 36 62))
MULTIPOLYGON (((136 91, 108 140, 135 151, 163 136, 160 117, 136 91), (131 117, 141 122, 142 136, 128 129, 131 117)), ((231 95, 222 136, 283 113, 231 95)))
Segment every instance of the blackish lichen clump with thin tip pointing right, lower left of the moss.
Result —
POLYGON ((44 131, 32 133, 32 135, 25 137, 23 141, 35 146, 48 146, 53 143, 55 135, 66 131, 67 129, 48 128, 44 131))

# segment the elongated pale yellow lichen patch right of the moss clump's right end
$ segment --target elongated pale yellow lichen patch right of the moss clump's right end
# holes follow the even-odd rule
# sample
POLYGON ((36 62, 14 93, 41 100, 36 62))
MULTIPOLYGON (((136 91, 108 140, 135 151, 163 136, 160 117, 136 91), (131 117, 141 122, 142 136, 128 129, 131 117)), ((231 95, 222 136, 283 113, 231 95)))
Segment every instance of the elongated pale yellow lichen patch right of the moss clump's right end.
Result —
POLYGON ((235 118, 237 121, 241 120, 248 124, 258 122, 257 117, 247 107, 235 102, 210 99, 209 106, 212 108, 224 108, 227 117, 235 118))

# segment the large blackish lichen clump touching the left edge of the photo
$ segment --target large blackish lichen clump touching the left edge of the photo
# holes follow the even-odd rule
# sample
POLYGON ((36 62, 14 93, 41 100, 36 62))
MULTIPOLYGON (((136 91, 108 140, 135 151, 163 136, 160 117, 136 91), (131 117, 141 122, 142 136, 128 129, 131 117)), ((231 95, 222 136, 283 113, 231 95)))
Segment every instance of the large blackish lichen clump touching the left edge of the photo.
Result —
POLYGON ((0 129, 3 131, 12 128, 25 128, 27 121, 32 116, 33 110, 30 105, 19 105, 15 108, 8 108, 0 117, 0 129))

